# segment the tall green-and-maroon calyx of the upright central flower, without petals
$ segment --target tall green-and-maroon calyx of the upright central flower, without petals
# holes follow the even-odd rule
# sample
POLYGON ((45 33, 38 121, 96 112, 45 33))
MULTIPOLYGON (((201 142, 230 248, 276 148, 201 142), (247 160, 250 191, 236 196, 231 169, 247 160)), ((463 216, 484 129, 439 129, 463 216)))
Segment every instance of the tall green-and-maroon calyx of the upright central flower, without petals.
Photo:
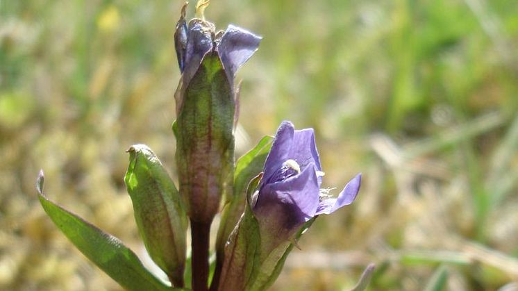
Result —
POLYGON ((216 51, 203 57, 185 88, 174 124, 180 192, 190 219, 208 223, 222 195, 232 192, 234 163, 235 101, 216 51))

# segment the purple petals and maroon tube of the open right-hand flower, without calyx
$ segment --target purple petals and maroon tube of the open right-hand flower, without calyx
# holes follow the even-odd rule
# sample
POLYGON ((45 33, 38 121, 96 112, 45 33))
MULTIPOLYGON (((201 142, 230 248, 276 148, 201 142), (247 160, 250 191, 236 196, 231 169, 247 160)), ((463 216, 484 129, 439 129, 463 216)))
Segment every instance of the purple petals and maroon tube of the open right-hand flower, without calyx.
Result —
POLYGON ((267 157, 253 205, 253 213, 270 238, 290 238, 313 217, 333 213, 354 201, 361 174, 349 181, 337 198, 320 189, 322 176, 313 129, 295 131, 291 122, 283 122, 267 157))

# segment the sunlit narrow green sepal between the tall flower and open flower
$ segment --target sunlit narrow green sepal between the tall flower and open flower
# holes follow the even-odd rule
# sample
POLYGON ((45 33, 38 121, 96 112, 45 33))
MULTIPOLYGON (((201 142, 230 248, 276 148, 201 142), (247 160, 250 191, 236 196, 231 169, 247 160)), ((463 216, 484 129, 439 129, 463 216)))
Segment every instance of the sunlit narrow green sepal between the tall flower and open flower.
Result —
POLYGON ((223 257, 222 251, 228 236, 243 214, 246 204, 247 186, 251 179, 262 171, 273 140, 273 137, 265 136, 256 147, 245 153, 235 163, 233 195, 226 197, 217 232, 216 251, 217 256, 220 258, 223 257))

